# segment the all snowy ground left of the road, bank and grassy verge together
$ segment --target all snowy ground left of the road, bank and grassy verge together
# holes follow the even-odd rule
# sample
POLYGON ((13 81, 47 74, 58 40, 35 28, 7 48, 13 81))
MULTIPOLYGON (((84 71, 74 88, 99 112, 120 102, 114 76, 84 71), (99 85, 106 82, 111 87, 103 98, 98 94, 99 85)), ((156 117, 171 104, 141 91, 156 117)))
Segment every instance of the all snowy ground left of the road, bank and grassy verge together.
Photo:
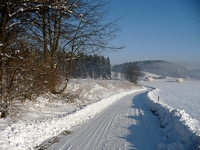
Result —
POLYGON ((71 80, 67 91, 67 94, 70 92, 70 101, 64 95, 56 97, 48 94, 40 97, 36 104, 27 103, 30 105, 29 112, 19 122, 0 120, 0 149, 34 149, 44 140, 67 133, 138 89, 141 87, 129 82, 71 80))

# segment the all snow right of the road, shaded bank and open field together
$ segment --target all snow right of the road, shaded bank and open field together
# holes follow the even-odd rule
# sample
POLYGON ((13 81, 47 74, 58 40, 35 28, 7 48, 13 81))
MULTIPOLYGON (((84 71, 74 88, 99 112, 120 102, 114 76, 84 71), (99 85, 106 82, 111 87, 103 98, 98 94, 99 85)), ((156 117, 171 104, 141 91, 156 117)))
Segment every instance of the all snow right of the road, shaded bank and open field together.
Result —
MULTIPOLYGON (((158 116, 164 133, 179 149, 200 149, 200 81, 156 79, 141 83, 153 87, 146 104, 158 116)), ((162 147, 162 146, 161 146, 162 147)))

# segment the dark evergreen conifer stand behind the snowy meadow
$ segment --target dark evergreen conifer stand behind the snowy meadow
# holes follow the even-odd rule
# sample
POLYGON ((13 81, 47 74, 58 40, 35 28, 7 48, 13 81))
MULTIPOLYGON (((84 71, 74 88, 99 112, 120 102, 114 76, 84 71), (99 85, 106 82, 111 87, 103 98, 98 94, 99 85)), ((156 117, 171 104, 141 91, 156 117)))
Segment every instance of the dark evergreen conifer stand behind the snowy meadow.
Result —
POLYGON ((73 78, 111 79, 110 59, 98 55, 82 55, 72 64, 73 78))

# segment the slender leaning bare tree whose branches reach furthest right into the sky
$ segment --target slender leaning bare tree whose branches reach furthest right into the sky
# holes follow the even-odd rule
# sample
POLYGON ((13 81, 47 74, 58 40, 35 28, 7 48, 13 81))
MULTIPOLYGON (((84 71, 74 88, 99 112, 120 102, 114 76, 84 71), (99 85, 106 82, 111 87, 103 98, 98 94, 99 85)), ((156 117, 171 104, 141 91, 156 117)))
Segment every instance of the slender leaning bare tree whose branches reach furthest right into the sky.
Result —
POLYGON ((101 53, 108 49, 118 50, 123 48, 109 43, 115 38, 115 33, 119 30, 117 25, 119 18, 111 21, 106 20, 109 11, 107 4, 102 0, 76 1, 73 4, 75 7, 73 15, 64 21, 67 23, 67 27, 70 27, 69 30, 66 30, 68 34, 64 34, 62 38, 64 44, 62 50, 70 54, 66 86, 71 73, 72 61, 80 54, 101 53))

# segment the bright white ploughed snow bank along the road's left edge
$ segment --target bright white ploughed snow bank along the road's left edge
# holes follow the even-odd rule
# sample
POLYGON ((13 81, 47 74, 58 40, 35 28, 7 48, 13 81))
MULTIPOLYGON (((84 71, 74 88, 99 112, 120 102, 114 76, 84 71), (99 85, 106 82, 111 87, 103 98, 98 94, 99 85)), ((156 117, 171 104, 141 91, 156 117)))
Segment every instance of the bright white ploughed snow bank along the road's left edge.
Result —
POLYGON ((45 118, 42 120, 21 121, 2 126, 0 127, 0 149, 32 150, 41 144, 42 141, 56 136, 61 132, 68 131, 72 127, 93 118, 96 114, 119 100, 121 97, 136 91, 138 90, 112 95, 70 115, 59 115, 57 117, 45 118))

